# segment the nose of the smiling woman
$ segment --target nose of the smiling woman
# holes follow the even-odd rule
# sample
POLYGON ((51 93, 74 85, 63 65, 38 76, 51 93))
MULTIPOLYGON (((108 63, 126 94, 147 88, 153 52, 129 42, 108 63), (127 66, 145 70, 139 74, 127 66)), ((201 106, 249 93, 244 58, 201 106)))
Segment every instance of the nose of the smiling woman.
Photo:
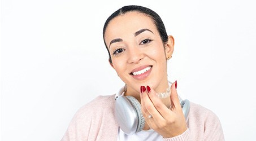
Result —
POLYGON ((128 50, 128 63, 139 63, 144 58, 144 54, 139 47, 132 47, 128 50))

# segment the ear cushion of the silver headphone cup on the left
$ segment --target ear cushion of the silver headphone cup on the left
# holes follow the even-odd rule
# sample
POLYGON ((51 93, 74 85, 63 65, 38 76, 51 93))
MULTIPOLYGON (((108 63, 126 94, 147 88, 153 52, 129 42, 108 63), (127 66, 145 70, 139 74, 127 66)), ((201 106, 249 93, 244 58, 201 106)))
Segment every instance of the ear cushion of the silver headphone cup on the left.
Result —
POLYGON ((134 109, 136 109, 136 113, 137 113, 137 117, 138 117, 138 125, 137 125, 136 132, 139 132, 144 128, 144 125, 145 125, 145 118, 141 111, 141 104, 133 96, 126 96, 126 98, 132 103, 134 109))

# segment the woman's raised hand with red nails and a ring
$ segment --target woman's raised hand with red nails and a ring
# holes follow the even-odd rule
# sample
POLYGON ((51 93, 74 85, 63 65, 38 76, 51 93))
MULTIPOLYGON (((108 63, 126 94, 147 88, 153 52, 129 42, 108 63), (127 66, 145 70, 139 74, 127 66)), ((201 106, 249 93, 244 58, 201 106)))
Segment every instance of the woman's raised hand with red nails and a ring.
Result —
POLYGON ((149 86, 141 86, 141 109, 145 121, 151 129, 157 131, 163 138, 183 134, 187 129, 177 96, 176 83, 172 83, 171 86, 171 108, 167 108, 149 86))

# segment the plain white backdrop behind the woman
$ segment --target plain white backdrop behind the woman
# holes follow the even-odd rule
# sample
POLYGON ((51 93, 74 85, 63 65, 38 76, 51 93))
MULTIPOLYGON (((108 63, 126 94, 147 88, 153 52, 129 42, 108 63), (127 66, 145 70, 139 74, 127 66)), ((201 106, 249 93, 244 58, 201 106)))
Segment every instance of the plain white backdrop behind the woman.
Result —
POLYGON ((157 12, 175 38, 168 77, 222 122, 226 140, 255 140, 255 1, 1 1, 1 139, 60 140, 75 112, 123 86, 102 28, 125 5, 157 12))

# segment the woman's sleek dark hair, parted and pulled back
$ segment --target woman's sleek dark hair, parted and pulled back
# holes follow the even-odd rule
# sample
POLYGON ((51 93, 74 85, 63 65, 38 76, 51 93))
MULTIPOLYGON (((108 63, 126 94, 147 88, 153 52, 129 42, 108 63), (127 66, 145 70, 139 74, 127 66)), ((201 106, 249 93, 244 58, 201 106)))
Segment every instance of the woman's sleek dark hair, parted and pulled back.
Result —
MULTIPOLYGON (((153 21, 154 21, 155 27, 157 27, 157 30, 160 34, 162 42, 166 43, 168 41, 168 36, 166 33, 166 28, 164 27, 163 21, 155 11, 150 10, 149 8, 146 8, 146 7, 142 7, 142 6, 130 5, 130 6, 124 6, 124 7, 120 8, 119 10, 115 11, 112 15, 110 15, 109 18, 107 18, 107 20, 104 24, 104 28, 103 28, 103 39, 104 39, 106 48, 107 48, 107 45, 106 45, 104 36, 105 36, 107 25, 109 25, 109 22, 112 19, 114 19, 115 17, 125 14, 127 12, 131 12, 131 11, 141 12, 142 14, 145 14, 145 15, 151 17, 151 19, 153 19, 153 21)), ((107 49, 107 51, 109 52, 109 49, 107 49)), ((109 52, 109 61, 110 61, 110 63, 112 63, 110 52, 109 52)))

